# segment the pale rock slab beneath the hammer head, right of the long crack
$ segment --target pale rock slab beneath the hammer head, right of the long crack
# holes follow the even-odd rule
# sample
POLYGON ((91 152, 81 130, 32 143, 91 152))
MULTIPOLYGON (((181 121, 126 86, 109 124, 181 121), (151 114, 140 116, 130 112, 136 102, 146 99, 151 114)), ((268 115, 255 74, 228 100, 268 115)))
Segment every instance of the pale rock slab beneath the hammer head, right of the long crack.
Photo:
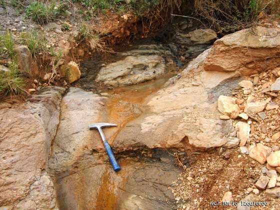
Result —
MULTIPOLYGON (((61 101, 60 123, 52 145, 49 168, 61 172, 73 167, 84 155, 94 151, 103 151, 102 141, 97 131, 89 130, 88 125, 97 121, 106 121, 105 108, 100 97, 80 88, 70 87, 61 101)), ((104 130, 107 137, 107 131, 104 130)))

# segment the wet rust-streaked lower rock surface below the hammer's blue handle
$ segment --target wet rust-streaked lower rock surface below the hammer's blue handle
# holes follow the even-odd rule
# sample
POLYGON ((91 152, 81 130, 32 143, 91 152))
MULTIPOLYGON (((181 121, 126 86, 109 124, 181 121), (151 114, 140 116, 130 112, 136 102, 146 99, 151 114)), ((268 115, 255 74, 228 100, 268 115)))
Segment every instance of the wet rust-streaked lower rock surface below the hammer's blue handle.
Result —
POLYGON ((118 173, 110 165, 99 164, 58 178, 60 209, 176 209, 168 186, 179 174, 178 168, 133 158, 120 160, 120 165, 118 173))

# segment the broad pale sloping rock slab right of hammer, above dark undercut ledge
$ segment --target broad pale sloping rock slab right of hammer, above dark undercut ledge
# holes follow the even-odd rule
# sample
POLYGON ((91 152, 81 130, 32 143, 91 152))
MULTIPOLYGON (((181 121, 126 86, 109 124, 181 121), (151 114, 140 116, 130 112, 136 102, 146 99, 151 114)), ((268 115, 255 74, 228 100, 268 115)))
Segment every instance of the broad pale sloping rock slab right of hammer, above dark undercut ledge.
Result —
POLYGON ((146 101, 144 113, 120 130, 112 144, 114 149, 180 148, 186 144, 208 149, 235 138, 232 121, 219 119, 217 104, 211 100, 231 88, 226 81, 235 74, 205 74, 199 63, 208 51, 190 62, 181 77, 170 79, 169 85, 146 101), (213 82, 208 83, 205 77, 213 82))

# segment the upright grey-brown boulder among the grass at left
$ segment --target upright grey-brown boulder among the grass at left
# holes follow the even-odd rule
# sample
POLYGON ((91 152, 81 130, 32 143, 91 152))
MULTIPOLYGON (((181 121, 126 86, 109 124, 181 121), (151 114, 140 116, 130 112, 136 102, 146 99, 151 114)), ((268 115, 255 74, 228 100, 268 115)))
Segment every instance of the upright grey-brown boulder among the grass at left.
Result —
POLYGON ((38 67, 33 61, 32 54, 27 46, 16 46, 14 52, 19 69, 31 75, 37 75, 39 73, 38 67))

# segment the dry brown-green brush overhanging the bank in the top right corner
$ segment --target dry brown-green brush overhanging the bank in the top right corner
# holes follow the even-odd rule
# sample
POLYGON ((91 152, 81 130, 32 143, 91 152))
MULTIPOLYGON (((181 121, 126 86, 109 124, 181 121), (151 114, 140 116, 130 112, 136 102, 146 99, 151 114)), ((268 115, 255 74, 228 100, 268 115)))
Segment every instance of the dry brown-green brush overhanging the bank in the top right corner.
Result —
POLYGON ((216 32, 227 34, 254 26, 261 12, 280 14, 280 0, 194 0, 195 15, 216 32))

